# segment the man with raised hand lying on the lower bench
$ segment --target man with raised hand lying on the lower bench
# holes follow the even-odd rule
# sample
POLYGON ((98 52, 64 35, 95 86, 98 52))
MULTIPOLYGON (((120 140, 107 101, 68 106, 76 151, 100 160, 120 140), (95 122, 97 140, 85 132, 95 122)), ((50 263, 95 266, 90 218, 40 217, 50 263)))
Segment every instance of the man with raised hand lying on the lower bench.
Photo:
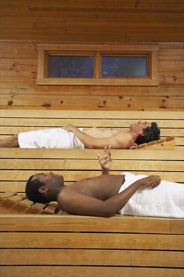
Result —
POLYGON ((111 146, 105 147, 99 162, 102 175, 85 178, 70 186, 62 175, 49 172, 32 175, 26 184, 26 196, 34 202, 57 201, 70 214, 112 217, 116 213, 146 217, 183 218, 183 187, 161 181, 157 175, 109 175, 111 146))

